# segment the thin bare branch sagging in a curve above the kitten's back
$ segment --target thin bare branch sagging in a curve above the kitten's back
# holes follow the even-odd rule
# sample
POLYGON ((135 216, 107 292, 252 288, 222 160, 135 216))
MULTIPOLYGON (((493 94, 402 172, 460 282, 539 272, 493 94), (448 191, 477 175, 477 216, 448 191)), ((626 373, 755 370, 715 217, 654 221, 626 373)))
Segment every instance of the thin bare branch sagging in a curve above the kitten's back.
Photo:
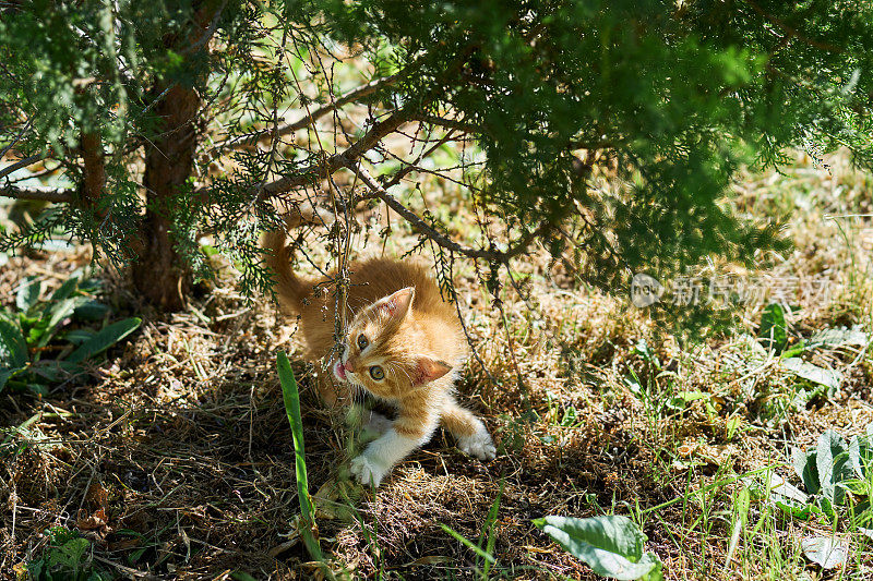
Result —
POLYGON ((372 197, 378 197, 387 204, 391 209, 399 214, 400 217, 409 222, 415 231, 426 235, 445 250, 463 254, 469 258, 481 258, 489 262, 505 264, 510 258, 525 252, 535 239, 541 237, 550 228, 547 222, 540 223, 539 227, 523 235, 506 251, 499 251, 493 246, 491 249, 469 249, 462 246, 442 232, 436 231, 428 222, 418 217, 416 213, 400 204, 396 197, 387 193, 385 189, 379 184, 379 182, 370 174, 369 171, 367 171, 363 166, 360 165, 359 161, 344 158, 343 162, 346 168, 351 170, 363 182, 363 184, 370 189, 370 191, 373 193, 372 197))

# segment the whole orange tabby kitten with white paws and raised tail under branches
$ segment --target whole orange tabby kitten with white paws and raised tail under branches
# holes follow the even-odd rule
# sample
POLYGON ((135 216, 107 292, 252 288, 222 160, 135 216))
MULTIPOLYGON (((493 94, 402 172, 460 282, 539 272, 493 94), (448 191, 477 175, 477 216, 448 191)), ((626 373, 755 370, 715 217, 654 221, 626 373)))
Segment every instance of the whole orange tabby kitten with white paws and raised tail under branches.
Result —
MULTIPOLYGON (((444 303, 424 267, 411 262, 371 258, 352 263, 342 350, 334 348, 335 298, 315 295, 320 280, 304 280, 290 269, 285 233, 265 235, 273 251, 279 303, 300 315, 308 355, 332 356, 333 375, 342 386, 362 387, 397 409, 396 420, 373 413, 369 427, 381 436, 351 461, 362 484, 379 485, 392 467, 430 440, 442 421, 462 451, 482 460, 494 458, 494 444, 481 420, 455 401, 452 390, 467 356, 467 342, 454 308, 444 303), (334 350, 336 351, 336 350, 334 350)), ((336 388, 322 386, 328 403, 336 388)))

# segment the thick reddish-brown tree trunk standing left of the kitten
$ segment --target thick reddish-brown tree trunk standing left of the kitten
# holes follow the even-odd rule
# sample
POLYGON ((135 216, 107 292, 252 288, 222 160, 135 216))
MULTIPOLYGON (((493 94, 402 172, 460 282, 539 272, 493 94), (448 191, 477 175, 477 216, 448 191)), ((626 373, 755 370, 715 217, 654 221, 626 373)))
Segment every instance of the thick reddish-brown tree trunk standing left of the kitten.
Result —
MULTIPOLYGON (((160 95, 165 87, 156 87, 160 95)), ((147 209, 140 233, 139 257, 133 265, 133 283, 151 303, 163 310, 179 310, 191 285, 170 233, 168 216, 174 197, 191 177, 196 152, 195 118, 200 96, 193 87, 172 86, 155 107, 160 119, 159 136, 145 152, 147 209)))

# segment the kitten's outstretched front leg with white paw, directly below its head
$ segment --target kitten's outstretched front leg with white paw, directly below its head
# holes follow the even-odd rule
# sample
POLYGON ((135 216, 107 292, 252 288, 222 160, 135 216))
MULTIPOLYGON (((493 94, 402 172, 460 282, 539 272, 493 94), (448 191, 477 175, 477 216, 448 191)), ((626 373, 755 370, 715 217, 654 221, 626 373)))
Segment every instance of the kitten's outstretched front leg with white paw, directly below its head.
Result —
POLYGON ((351 460, 351 473, 361 484, 379 486, 394 464, 430 439, 438 423, 432 410, 414 410, 410 414, 400 410, 391 428, 351 460))

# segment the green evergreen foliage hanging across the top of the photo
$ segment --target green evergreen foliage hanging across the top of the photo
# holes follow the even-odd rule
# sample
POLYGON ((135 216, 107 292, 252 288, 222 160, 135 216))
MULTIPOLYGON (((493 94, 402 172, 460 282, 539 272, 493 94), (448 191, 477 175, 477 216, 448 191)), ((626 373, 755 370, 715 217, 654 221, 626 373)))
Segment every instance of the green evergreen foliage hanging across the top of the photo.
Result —
MULTIPOLYGON (((337 143, 360 143, 403 113, 435 119, 428 135, 473 137, 453 180, 510 239, 551 225, 543 245, 572 254, 584 281, 617 291, 635 271, 668 280, 709 257, 752 265, 756 250, 784 247, 778 223, 731 209, 744 166, 778 165, 792 147, 818 157, 845 146, 873 167, 869 3, 29 0, 0 10, 0 147, 50 155, 81 184, 82 135, 95 133, 108 177, 94 205, 50 209, 0 234, 0 251, 62 231, 127 263, 147 209, 170 222, 198 276, 208 276, 199 235, 210 232, 243 290, 266 288, 256 237, 277 220, 274 194, 259 189, 276 178, 318 183, 325 175, 313 168, 337 143), (196 38, 212 31, 200 50, 196 38), (370 114, 360 131, 337 112, 328 141, 310 133, 253 146, 284 111, 306 114, 348 93, 334 70, 349 66, 395 75, 360 99, 370 114), (199 148, 179 160, 188 180, 178 197, 155 205, 139 195, 139 152, 165 131, 155 107, 174 86, 202 96, 199 148), (611 185, 579 169, 588 152, 613 168, 611 185)), ((360 146, 376 174, 416 165, 378 144, 360 146)), ((429 171, 451 173, 456 161, 443 157, 429 171)), ((347 202, 344 192, 333 204, 347 202)), ((338 227, 322 233, 339 240, 338 227)), ((483 247, 505 242, 483 234, 483 247)))

